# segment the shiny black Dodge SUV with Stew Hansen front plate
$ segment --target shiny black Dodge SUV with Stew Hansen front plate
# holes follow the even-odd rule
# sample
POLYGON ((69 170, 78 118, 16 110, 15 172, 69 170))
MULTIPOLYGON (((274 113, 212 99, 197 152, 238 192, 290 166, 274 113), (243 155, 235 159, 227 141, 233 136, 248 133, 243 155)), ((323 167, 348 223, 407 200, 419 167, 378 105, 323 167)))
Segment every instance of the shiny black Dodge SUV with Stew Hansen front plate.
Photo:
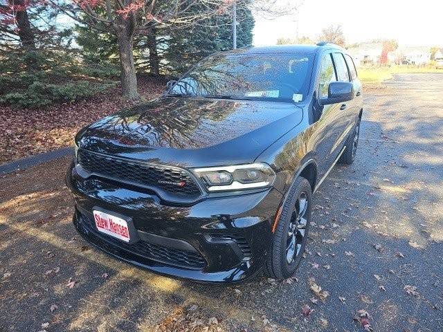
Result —
POLYGON ((332 44, 217 53, 160 98, 82 129, 66 182, 94 246, 156 273, 238 282, 296 270, 312 193, 354 160, 352 58, 332 44))

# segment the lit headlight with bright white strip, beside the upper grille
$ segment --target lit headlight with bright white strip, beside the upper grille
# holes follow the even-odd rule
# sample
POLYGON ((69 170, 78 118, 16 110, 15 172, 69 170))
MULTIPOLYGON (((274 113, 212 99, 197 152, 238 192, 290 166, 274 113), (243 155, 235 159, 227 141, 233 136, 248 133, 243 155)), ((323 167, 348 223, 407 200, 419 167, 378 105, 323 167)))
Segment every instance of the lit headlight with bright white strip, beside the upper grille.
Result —
POLYGON ((264 163, 193 169, 210 192, 242 190, 272 185, 275 172, 264 163))

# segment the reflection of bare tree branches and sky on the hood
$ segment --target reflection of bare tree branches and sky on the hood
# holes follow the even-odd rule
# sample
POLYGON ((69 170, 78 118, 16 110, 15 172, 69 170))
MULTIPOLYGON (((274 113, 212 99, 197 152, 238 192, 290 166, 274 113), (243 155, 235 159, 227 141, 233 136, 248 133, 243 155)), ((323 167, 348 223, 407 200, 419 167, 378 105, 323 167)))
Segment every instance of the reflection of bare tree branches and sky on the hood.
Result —
POLYGON ((119 145, 197 149, 233 140, 295 111, 293 104, 162 98, 89 126, 82 140, 119 145))

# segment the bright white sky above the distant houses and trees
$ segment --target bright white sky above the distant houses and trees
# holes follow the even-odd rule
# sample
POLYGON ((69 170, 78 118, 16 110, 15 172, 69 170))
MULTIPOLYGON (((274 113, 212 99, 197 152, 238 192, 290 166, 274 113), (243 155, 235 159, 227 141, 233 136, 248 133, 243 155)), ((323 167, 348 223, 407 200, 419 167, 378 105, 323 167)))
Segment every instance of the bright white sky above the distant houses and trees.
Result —
MULTIPOLYGON (((299 37, 315 40, 322 28, 341 24, 347 44, 397 39, 400 46, 443 47, 443 0, 304 0, 299 8, 299 37)), ((296 17, 255 15, 254 45, 295 38, 296 17)))

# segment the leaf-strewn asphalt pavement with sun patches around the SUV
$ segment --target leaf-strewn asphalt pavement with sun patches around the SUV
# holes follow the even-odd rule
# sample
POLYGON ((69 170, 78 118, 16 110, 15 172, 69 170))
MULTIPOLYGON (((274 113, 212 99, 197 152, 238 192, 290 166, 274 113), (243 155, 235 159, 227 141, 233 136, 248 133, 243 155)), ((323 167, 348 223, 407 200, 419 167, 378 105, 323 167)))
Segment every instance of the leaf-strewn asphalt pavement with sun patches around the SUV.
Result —
POLYGON ((0 331, 443 331, 443 74, 365 91, 296 278, 196 284, 87 246, 68 158, 0 177, 0 331), (320 288, 318 288, 320 287, 320 288))

